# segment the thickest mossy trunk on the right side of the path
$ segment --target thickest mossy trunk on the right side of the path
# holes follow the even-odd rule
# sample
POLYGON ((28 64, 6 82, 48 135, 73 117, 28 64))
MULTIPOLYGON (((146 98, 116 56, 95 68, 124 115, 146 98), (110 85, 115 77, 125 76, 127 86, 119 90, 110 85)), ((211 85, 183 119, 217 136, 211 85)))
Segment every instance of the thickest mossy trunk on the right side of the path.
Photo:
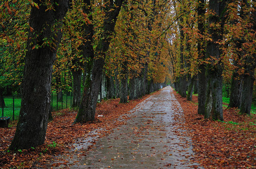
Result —
POLYGON ((226 0, 210 0, 209 10, 215 14, 209 17, 209 25, 220 23, 220 28, 208 29, 212 41, 208 41, 206 48, 206 56, 211 60, 211 64, 207 65, 207 88, 206 88, 206 112, 204 117, 210 119, 220 119, 223 121, 222 107, 222 72, 221 55, 223 52, 217 42, 223 38, 223 26, 225 15, 226 0), (216 30, 218 29, 218 30, 216 30), (216 63, 217 61, 217 63, 216 63))

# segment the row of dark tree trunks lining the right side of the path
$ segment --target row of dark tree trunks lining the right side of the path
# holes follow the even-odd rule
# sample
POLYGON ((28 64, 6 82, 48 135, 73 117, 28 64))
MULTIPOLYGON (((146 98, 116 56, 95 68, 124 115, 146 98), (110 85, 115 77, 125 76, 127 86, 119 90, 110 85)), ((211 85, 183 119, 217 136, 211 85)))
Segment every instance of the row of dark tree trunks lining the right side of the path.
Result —
MULTIPOLYGON (((243 6, 248 5, 244 1, 243 6)), ((223 62, 221 57, 223 56, 223 49, 218 42, 223 41, 224 24, 227 19, 227 5, 230 3, 227 0, 209 1, 209 10, 214 14, 208 17, 208 35, 211 38, 208 41, 204 41, 203 38, 198 39, 198 56, 200 59, 199 71, 198 71, 198 82, 195 81, 195 77, 191 78, 190 74, 181 72, 180 76, 177 77, 175 88, 182 97, 187 97, 187 100, 191 100, 193 93, 193 86, 196 86, 196 92, 198 92, 198 114, 203 114, 205 118, 220 119, 223 121, 223 100, 222 100, 222 88, 223 88, 223 62), (214 24, 220 24, 219 27, 214 27, 214 24), (207 62, 205 62, 207 60, 207 62), (187 93, 186 93, 187 91, 187 93)), ((198 31, 199 34, 204 35, 206 29, 206 20, 204 15, 206 14, 206 1, 198 0, 198 31)), ((255 17, 256 10, 247 15, 250 15, 253 26, 251 32, 255 32, 255 17)), ((241 18, 245 19, 246 14, 241 12, 241 18)), ((182 17, 180 18, 182 23, 182 17)), ((182 31, 183 26, 180 24, 180 38, 181 44, 184 41, 184 32, 182 31)), ((236 48, 238 61, 234 59, 234 66, 236 69, 233 72, 232 83, 231 83, 231 95, 229 107, 240 108, 241 114, 250 114, 251 103, 253 100, 253 86, 254 86, 254 71, 255 71, 255 52, 249 54, 246 51, 245 39, 241 37, 236 39, 236 48), (244 50, 240 50, 244 49, 244 50), (240 50, 240 51, 239 51, 240 50), (247 52, 247 53, 246 53, 247 52), (244 69, 244 73, 241 73, 241 69, 244 69)), ((188 68, 184 56, 184 47, 180 46, 180 60, 181 70, 188 68)))

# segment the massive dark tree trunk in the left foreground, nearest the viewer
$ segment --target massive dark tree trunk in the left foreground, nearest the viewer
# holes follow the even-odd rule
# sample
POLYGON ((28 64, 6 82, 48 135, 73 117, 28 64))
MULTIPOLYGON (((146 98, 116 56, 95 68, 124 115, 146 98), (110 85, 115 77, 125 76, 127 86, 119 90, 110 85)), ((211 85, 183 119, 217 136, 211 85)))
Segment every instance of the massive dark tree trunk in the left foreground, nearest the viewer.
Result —
POLYGON ((67 0, 55 1, 54 10, 48 10, 40 0, 33 2, 39 5, 39 9, 31 9, 29 26, 33 31, 28 35, 22 104, 10 150, 35 148, 44 144, 50 109, 53 63, 62 37, 62 19, 68 9, 67 0), (44 45, 47 39, 54 39, 52 47, 44 45))

